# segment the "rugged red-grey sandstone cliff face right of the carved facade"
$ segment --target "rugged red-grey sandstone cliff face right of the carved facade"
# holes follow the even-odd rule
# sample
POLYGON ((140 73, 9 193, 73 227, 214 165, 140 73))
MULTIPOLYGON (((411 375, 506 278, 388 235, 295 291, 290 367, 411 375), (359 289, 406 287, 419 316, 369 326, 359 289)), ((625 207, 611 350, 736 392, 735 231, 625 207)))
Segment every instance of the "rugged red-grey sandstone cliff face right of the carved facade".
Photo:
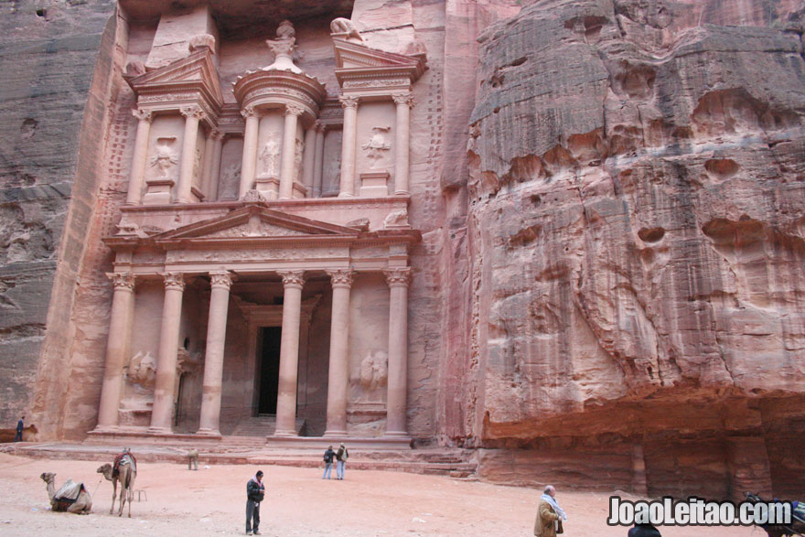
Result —
POLYGON ((520 481, 588 484, 586 451, 637 445, 649 492, 802 491, 803 16, 547 0, 483 33, 447 435, 564 451, 520 481))

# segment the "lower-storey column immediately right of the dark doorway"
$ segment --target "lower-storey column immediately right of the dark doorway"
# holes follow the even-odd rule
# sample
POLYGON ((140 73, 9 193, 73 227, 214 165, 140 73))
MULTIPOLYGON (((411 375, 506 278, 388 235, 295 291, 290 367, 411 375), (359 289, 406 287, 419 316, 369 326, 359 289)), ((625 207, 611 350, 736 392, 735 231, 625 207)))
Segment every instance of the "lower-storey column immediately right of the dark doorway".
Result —
POLYGON ((280 373, 274 435, 296 434, 296 376, 299 368, 299 317, 305 271, 279 273, 283 277, 283 333, 280 337, 280 373))

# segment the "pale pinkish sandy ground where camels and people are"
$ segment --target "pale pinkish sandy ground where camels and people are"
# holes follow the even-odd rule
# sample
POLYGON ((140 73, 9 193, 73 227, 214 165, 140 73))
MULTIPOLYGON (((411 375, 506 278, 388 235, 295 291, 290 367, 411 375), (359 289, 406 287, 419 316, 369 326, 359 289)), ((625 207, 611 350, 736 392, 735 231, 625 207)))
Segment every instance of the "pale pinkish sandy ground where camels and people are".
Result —
MULTIPOLYGON (((110 461, 111 462, 111 461, 110 461)), ((99 462, 32 459, 0 453, 0 535, 232 535, 245 531, 250 466, 187 467, 145 463, 135 489, 143 490, 132 518, 109 514, 112 483, 95 473, 99 462), (86 516, 49 510, 39 474, 56 472, 56 485, 82 480, 93 494, 86 516), (146 498, 147 497, 147 498, 146 498)), ((263 535, 531 535, 540 491, 402 472, 350 470, 323 481, 317 469, 262 466, 266 495, 263 535)), ((606 526, 608 494, 559 489, 568 537, 625 536, 606 526)), ((664 537, 763 537, 753 528, 661 528, 664 537)))

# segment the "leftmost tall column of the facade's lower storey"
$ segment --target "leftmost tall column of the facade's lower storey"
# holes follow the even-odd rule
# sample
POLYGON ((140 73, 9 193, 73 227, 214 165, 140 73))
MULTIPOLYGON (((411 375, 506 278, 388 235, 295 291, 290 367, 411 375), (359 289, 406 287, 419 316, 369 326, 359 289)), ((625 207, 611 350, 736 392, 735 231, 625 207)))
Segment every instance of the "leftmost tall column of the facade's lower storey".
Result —
POLYGON ((107 274, 112 279, 112 312, 109 315, 109 338, 106 340, 106 363, 103 369, 101 404, 98 407, 96 431, 117 429, 120 391, 123 383, 123 364, 128 351, 131 312, 134 298, 134 274, 107 274))

